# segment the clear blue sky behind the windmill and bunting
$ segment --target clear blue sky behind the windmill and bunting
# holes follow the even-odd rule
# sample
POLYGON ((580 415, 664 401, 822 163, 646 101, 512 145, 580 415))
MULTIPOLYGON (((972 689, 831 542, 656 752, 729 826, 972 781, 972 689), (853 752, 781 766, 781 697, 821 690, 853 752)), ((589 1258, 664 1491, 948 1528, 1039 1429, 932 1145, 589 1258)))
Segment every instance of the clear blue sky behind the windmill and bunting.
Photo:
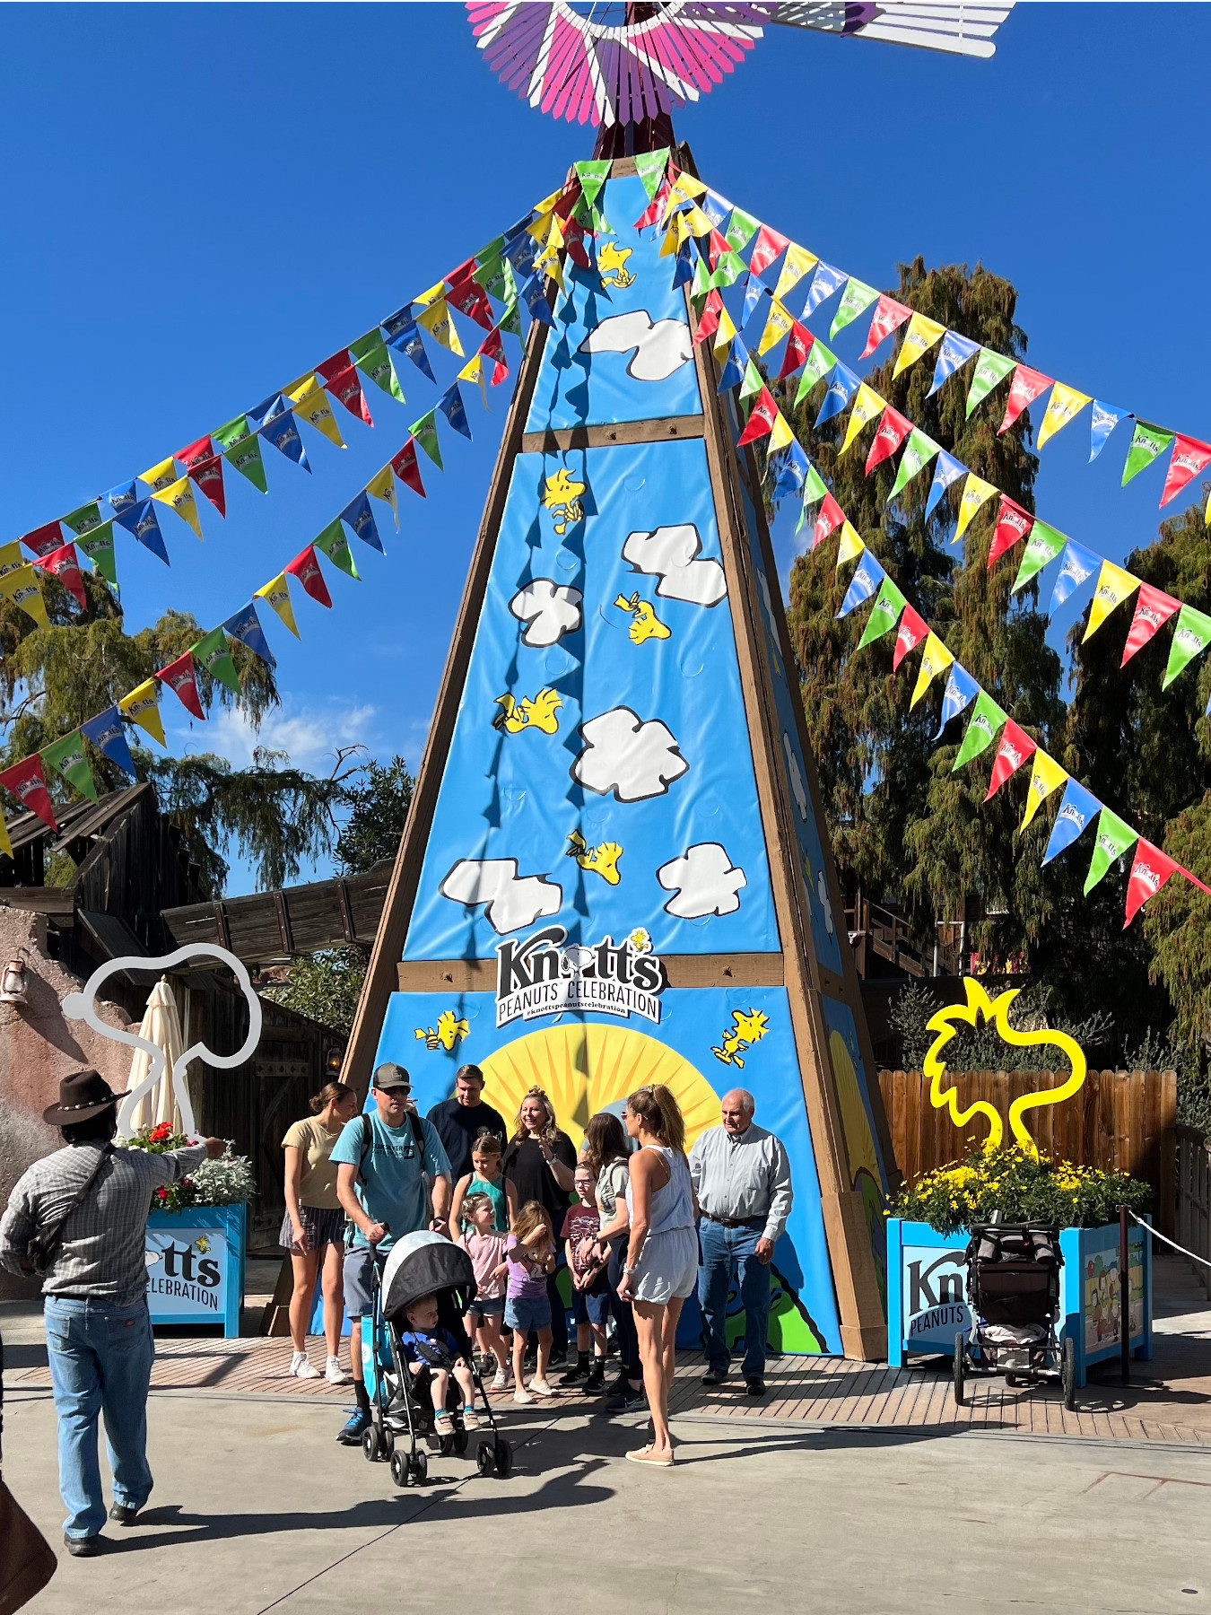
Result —
MULTIPOLYGON (((460 5, 10 5, 5 24, 3 541, 325 359, 591 155, 591 131, 492 78, 460 5)), ((773 29, 677 131, 712 186, 875 286, 917 252, 982 260, 1019 289, 1032 363, 1211 438, 1209 47, 1211 13, 1167 5, 1020 5, 990 63, 773 29)), ((203 544, 165 514, 171 570, 123 544, 128 625, 242 606, 431 407, 405 386, 370 401, 373 431, 341 412, 344 454, 308 433, 312 476, 273 451, 268 497, 228 473, 203 544)), ((355 740, 420 762, 507 391, 489 417, 468 397, 475 443, 446 434, 428 501, 400 494, 399 536, 379 522, 388 556, 329 575, 333 612, 295 596, 302 644, 268 622, 284 699, 263 743, 315 772, 355 740)), ((1158 468, 1119 489, 1127 439, 1090 467, 1080 422, 1038 478, 1040 515, 1113 559, 1158 523, 1158 468)), ((249 759, 247 725, 179 711, 174 748, 249 759)))

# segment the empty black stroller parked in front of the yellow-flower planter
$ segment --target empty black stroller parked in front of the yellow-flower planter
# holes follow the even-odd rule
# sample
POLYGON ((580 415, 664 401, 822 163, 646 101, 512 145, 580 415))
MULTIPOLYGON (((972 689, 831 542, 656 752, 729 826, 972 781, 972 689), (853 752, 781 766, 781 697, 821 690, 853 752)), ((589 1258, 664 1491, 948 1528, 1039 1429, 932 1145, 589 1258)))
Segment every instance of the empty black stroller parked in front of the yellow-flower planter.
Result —
POLYGON ((1008 1386, 1058 1382, 1064 1407, 1075 1407, 1077 1360, 1059 1323, 1059 1229, 1046 1223, 991 1223, 972 1229, 967 1244, 970 1334, 954 1337, 954 1400, 972 1376, 1004 1374, 1008 1386))

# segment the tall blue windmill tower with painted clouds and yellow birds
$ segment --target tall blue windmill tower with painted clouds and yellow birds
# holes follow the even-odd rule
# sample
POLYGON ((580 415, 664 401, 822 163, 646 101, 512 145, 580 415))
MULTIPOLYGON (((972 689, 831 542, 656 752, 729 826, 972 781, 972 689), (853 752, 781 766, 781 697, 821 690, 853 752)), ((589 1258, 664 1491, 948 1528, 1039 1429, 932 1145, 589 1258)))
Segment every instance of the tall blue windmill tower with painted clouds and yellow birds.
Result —
MULTIPOLYGON (((572 15, 471 10, 531 32, 572 15)), ((656 21, 693 23, 691 73, 709 13, 770 10, 656 21)), ((601 60, 581 73, 607 129, 670 111, 626 32, 604 99, 601 60)), ((526 40, 575 81, 567 42, 547 34, 543 58, 526 40)), ((657 40, 646 27, 643 50, 657 40)), ((670 260, 631 223, 647 202, 635 157, 612 157, 594 202, 612 233, 531 326, 346 1077, 399 1061, 425 1110, 473 1061, 505 1118, 541 1085, 575 1143, 644 1082, 677 1093, 691 1139, 748 1089, 794 1177, 772 1340, 877 1358, 893 1158, 757 465, 670 260)))

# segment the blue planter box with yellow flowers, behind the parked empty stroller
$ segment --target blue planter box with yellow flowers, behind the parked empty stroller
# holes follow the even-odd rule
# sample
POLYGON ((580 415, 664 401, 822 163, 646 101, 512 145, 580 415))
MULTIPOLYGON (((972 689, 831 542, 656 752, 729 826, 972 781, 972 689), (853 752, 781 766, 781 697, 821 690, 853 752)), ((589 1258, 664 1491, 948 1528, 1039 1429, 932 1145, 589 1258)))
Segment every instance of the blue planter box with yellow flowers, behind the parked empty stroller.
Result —
MULTIPOLYGON (((954 1357, 954 1336, 972 1326, 966 1300, 967 1234, 935 1234, 928 1223, 888 1218, 886 1307, 888 1363, 909 1355, 954 1357)), ((1072 1340, 1077 1384, 1090 1363, 1119 1355, 1119 1224, 1059 1231, 1058 1337, 1072 1340)), ((1153 1355, 1153 1252, 1142 1227, 1129 1234, 1130 1344, 1135 1357, 1153 1355)))

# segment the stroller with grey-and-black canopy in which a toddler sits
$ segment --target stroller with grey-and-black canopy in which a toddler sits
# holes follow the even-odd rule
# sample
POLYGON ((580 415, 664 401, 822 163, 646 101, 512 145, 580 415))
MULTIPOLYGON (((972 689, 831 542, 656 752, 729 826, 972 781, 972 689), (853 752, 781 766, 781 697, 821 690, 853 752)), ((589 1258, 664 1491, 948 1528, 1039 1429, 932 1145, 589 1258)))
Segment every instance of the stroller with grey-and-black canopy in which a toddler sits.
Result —
POLYGON ((439 1436, 433 1423, 431 1370, 423 1365, 418 1373, 410 1373, 400 1347, 400 1334, 409 1326, 405 1310, 423 1295, 436 1295, 438 1324, 449 1329, 460 1355, 470 1363, 475 1389, 488 1415, 491 1436, 480 1439, 475 1452, 476 1468, 480 1474, 502 1478, 510 1474, 513 1452, 496 1428, 492 1405, 484 1395, 483 1379, 475 1366, 475 1353, 462 1321, 476 1290, 471 1258, 441 1234, 405 1234, 392 1245, 381 1271, 378 1261, 373 1269, 373 1328, 367 1331, 363 1326, 362 1339, 363 1373, 370 1394, 370 1424, 362 1436, 367 1458, 371 1463, 389 1462, 396 1486, 423 1486, 430 1465, 421 1442, 442 1455, 467 1452, 470 1437, 463 1428, 462 1392, 454 1374, 446 1395, 454 1434, 439 1436))

